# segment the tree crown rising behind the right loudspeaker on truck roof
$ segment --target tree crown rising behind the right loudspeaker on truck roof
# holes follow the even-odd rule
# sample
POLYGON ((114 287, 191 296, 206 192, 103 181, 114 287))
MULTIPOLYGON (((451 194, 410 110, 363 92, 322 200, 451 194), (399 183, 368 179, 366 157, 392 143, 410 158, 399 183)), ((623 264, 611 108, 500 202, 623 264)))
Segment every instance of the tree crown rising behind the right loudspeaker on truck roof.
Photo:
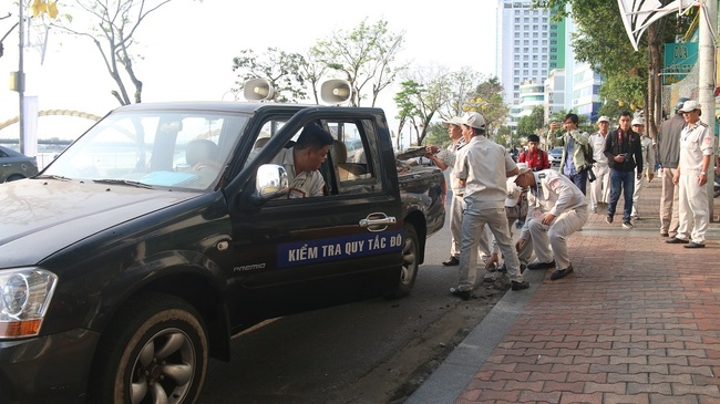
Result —
POLYGON ((388 21, 370 24, 366 19, 352 30, 339 30, 319 40, 311 52, 318 61, 350 82, 352 105, 360 105, 363 90, 370 85, 370 104, 374 106, 378 94, 407 69, 395 61, 404 40, 404 32, 391 32, 388 21))

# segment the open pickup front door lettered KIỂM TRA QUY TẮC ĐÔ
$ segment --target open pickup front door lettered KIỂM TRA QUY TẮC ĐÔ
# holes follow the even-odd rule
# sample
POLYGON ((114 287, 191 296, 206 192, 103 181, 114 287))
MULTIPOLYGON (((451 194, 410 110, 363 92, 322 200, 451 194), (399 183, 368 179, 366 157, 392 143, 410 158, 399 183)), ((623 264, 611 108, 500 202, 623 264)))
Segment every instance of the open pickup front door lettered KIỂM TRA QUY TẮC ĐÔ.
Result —
POLYGON ((379 296, 399 281, 402 218, 389 136, 378 135, 372 115, 317 122, 336 138, 320 168, 327 195, 279 198, 233 217, 232 279, 244 317, 379 296))

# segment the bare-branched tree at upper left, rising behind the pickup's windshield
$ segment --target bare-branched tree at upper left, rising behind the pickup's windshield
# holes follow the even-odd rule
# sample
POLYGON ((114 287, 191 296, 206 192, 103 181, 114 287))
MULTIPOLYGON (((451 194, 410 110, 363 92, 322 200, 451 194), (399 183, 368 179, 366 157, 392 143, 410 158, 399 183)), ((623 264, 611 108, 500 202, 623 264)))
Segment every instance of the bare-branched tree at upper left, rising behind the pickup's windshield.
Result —
POLYGON ((133 53, 136 44, 135 32, 147 17, 172 0, 75 0, 63 2, 62 14, 51 25, 64 33, 86 38, 93 41, 105 62, 105 69, 115 82, 116 89, 111 94, 121 105, 142 101, 143 82, 135 74, 134 63, 142 55, 133 53), (88 27, 73 24, 74 17, 84 17, 88 27), (124 71, 124 72, 123 72, 124 71), (125 81, 130 80, 135 91, 131 97, 125 81))

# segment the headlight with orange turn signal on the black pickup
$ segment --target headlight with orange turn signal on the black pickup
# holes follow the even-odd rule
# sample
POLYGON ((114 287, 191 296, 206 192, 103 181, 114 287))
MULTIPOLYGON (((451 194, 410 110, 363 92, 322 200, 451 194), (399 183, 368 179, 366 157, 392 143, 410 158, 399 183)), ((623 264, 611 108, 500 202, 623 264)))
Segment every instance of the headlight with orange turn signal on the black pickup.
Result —
POLYGON ((0 270, 0 339, 37 335, 56 282, 40 268, 0 270))

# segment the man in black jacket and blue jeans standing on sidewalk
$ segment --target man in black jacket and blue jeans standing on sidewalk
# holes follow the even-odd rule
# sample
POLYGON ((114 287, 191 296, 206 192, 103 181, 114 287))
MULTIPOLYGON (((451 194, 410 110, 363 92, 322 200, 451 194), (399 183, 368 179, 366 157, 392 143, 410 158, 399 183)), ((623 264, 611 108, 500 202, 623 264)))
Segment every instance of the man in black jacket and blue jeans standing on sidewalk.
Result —
POLYGON ((620 114, 620 127, 610 132, 605 141, 605 156, 610 166, 610 201, 607 204, 607 218, 613 222, 620 191, 625 195, 623 209, 623 228, 631 229, 632 193, 635 179, 642 178, 642 147, 640 135, 630 128, 631 115, 628 111, 620 114), (635 168, 637 167, 637 174, 635 168))

